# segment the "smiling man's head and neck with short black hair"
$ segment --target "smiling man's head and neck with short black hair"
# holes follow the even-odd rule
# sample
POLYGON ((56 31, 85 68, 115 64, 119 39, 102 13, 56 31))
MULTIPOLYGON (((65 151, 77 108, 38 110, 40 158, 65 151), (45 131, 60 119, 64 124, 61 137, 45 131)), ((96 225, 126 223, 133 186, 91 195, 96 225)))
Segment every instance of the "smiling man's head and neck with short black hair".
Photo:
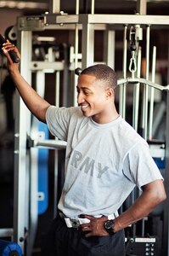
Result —
POLYGON ((82 71, 77 84, 77 102, 82 113, 99 124, 118 117, 115 105, 116 76, 110 67, 97 65, 82 71), (89 73, 88 73, 89 72, 89 73))

